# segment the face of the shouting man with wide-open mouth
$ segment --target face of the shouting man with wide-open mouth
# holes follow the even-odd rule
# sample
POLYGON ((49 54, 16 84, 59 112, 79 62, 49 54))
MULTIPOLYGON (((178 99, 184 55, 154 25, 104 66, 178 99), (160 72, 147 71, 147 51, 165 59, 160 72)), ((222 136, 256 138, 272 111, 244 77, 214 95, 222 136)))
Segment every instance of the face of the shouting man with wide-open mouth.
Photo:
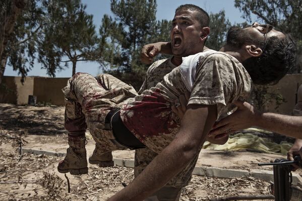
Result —
POLYGON ((170 31, 174 56, 189 56, 200 52, 201 26, 195 17, 196 11, 180 10, 175 13, 170 31))

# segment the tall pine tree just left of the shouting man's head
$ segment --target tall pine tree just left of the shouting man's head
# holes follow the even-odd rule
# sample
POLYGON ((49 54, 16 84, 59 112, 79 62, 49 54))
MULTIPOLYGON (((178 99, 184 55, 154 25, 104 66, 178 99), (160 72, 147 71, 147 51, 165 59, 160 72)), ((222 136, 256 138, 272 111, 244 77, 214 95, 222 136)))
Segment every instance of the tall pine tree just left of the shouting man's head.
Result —
POLYGON ((139 89, 148 68, 140 62, 143 45, 169 40, 170 22, 156 21, 155 0, 111 0, 111 17, 100 27, 101 65, 108 72, 139 89))

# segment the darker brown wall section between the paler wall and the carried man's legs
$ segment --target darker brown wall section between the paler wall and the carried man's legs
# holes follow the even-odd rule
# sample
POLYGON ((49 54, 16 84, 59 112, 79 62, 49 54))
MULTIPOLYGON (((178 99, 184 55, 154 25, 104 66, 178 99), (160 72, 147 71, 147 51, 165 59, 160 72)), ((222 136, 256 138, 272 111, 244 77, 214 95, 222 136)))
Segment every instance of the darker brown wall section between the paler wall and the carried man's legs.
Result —
POLYGON ((37 96, 38 102, 51 103, 57 106, 64 105, 64 95, 62 88, 66 86, 69 78, 34 78, 34 95, 37 96))

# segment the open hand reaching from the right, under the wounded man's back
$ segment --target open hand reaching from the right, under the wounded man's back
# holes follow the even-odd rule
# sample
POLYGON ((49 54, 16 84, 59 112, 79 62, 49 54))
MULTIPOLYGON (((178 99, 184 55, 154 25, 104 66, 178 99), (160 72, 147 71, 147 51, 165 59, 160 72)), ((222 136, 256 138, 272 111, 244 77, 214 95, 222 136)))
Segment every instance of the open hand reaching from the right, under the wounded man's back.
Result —
POLYGON ((218 135, 223 133, 233 133, 234 131, 243 130, 255 126, 258 111, 247 102, 237 100, 234 103, 237 110, 231 115, 216 122, 209 135, 218 135))

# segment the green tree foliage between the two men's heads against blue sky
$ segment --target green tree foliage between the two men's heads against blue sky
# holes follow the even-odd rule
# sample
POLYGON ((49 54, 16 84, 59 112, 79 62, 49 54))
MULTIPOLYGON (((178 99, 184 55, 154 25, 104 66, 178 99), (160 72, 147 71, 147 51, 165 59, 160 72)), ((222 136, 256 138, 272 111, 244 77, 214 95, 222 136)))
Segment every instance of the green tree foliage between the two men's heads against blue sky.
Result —
POLYGON ((231 27, 231 23, 225 18, 224 10, 217 14, 210 14, 210 34, 206 41, 206 46, 213 50, 219 50, 226 40, 226 34, 231 27))

